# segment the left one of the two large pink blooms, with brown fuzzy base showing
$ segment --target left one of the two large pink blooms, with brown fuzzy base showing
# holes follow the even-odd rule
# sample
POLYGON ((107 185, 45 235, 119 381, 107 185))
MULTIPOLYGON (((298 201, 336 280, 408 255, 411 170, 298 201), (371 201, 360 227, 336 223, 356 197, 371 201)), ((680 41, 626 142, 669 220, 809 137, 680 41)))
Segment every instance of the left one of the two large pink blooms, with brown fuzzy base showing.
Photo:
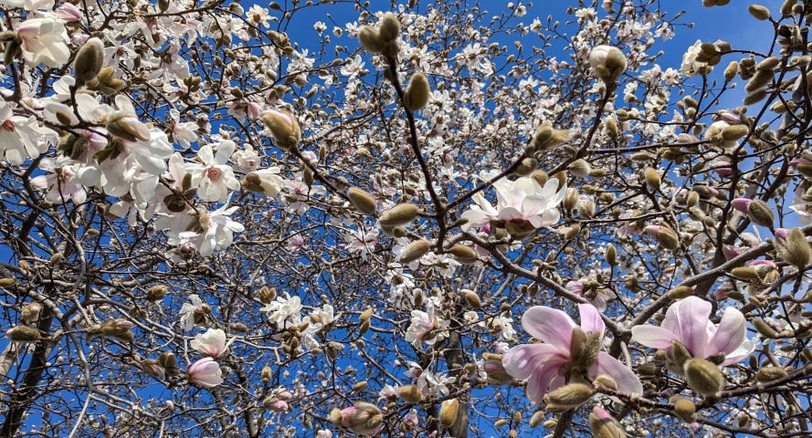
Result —
POLYGON ((617 381, 618 391, 642 394, 643 386, 634 371, 598 351, 606 329, 600 312, 591 304, 580 304, 578 310, 580 327, 561 310, 545 306, 527 309, 522 327, 543 343, 509 349, 502 359, 505 370, 515 379, 528 379, 527 398, 533 403, 568 381, 591 380, 598 374, 617 381))

